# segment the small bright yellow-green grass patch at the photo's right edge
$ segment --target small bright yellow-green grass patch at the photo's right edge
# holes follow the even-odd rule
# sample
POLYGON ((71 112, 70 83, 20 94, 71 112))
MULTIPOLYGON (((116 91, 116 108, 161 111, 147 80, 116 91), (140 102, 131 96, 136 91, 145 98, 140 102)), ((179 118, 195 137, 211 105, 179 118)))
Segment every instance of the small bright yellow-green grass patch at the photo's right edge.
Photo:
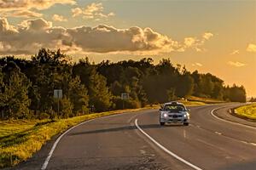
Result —
POLYGON ((238 116, 245 116, 249 119, 256 120, 256 104, 241 106, 236 109, 236 114, 238 116))

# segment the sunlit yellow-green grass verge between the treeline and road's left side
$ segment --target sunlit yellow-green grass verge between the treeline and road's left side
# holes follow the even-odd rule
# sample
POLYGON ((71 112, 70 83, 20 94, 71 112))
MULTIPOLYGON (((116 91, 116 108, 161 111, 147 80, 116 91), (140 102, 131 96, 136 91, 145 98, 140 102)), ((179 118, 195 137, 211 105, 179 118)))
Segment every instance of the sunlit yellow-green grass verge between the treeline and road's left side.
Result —
MULTIPOLYGON (((205 105, 198 101, 184 101, 184 105, 205 105)), ((75 116, 67 119, 51 120, 11 120, 0 121, 0 168, 13 167, 21 161, 26 161, 32 154, 56 134, 63 133, 69 127, 79 122, 101 116, 109 116, 124 112, 142 111, 146 109, 157 109, 160 105, 152 105, 141 109, 130 109, 121 111, 107 111, 93 113, 84 116, 75 116)))

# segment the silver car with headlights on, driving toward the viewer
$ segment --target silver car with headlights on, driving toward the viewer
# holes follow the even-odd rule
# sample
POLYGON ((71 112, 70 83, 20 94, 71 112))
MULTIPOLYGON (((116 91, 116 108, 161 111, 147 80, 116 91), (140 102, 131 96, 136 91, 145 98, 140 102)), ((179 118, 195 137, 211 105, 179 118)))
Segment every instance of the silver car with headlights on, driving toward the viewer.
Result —
POLYGON ((160 125, 165 123, 183 123, 189 125, 189 110, 182 103, 173 101, 160 108, 160 125))

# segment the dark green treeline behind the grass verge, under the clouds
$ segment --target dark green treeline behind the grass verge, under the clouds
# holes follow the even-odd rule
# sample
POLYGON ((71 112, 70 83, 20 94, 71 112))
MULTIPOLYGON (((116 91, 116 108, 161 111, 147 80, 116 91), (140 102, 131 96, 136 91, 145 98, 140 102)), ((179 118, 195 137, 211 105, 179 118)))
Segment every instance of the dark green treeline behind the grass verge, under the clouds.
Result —
POLYGON ((87 58, 72 63, 60 50, 40 49, 31 60, 14 56, 0 59, 0 110, 2 118, 54 118, 112 111, 163 103, 189 95, 246 101, 245 88, 224 87, 210 73, 189 72, 162 59, 128 60, 100 64, 87 58), (54 98, 62 89, 63 98, 54 98), (121 99, 121 94, 129 99, 121 99))

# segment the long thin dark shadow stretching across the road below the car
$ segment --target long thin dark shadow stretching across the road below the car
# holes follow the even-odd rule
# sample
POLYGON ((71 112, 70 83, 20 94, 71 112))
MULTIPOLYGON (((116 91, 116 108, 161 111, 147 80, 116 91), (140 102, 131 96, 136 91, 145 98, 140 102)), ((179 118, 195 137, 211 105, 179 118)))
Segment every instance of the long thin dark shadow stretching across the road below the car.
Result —
MULTIPOLYGON (((168 127, 180 127, 182 125, 168 125, 168 126, 160 126, 159 124, 148 124, 148 125, 140 125, 143 129, 148 128, 168 128, 168 127)), ((69 136, 80 135, 80 134, 90 134, 90 133, 111 133, 111 132, 119 132, 119 131, 127 131, 127 130, 134 130, 137 129, 136 126, 125 126, 125 127, 112 127, 112 128, 104 128, 104 129, 97 129, 92 131, 84 131, 78 133, 69 133, 69 136)))

